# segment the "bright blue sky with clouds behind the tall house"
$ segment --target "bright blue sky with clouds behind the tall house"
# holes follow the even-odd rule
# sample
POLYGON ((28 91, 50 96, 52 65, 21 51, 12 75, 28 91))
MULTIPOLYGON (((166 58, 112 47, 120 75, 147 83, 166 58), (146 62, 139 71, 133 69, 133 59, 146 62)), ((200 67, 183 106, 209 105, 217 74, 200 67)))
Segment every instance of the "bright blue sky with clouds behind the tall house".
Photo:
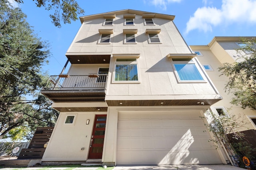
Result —
MULTIPOLYGON (((188 45, 207 45, 214 36, 256 36, 256 0, 77 0, 85 13, 81 16, 116 10, 140 10, 174 15, 174 23, 188 45)), ((55 27, 50 12, 37 8, 32 0, 20 4, 38 37, 50 43, 52 57, 43 67, 58 75, 67 58, 80 20, 55 27)), ((53 13, 53 12, 52 12, 53 13)), ((66 68, 66 71, 68 69, 66 68)))

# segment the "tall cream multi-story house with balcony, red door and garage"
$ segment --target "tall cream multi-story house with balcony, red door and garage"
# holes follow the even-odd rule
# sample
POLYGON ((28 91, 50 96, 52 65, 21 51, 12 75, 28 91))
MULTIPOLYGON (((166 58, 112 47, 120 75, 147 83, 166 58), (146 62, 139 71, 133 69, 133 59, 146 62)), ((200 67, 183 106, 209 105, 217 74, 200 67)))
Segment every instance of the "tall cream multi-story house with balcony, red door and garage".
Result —
POLYGON ((226 164, 200 118, 222 96, 173 20, 137 10, 80 17, 68 74, 41 91, 60 111, 43 162, 226 164))

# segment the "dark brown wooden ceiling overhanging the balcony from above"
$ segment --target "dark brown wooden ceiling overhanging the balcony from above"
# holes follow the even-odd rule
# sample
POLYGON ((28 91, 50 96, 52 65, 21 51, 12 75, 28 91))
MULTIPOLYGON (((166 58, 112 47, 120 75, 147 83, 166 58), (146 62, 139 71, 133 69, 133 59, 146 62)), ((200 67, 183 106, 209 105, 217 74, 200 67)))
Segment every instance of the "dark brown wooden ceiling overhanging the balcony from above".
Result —
POLYGON ((110 55, 66 55, 71 64, 109 64, 110 55))

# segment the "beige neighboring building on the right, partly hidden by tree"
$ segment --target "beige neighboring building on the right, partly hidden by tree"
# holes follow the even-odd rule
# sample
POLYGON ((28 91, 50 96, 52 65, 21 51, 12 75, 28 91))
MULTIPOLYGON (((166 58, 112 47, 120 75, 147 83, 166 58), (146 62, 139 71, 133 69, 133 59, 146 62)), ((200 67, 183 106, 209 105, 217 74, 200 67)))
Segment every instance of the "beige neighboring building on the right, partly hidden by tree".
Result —
MULTIPOLYGON (((253 37, 245 38, 251 39, 253 37)), ((234 61, 242 60, 240 54, 237 54, 236 49, 243 45, 241 37, 214 37, 208 45, 191 45, 190 48, 198 54, 197 59, 204 66, 204 70, 223 97, 223 100, 216 102, 210 107, 212 112, 216 116, 236 115, 236 118, 240 117, 238 120, 247 123, 240 131, 248 131, 250 129, 256 130, 256 111, 242 109, 239 105, 230 104, 232 93, 228 94, 224 90, 228 78, 224 75, 220 76, 221 72, 218 71, 218 67, 223 63, 234 63, 234 61)), ((248 54, 247 51, 242 53, 242 55, 248 54)), ((256 136, 254 137, 256 138, 256 136)))

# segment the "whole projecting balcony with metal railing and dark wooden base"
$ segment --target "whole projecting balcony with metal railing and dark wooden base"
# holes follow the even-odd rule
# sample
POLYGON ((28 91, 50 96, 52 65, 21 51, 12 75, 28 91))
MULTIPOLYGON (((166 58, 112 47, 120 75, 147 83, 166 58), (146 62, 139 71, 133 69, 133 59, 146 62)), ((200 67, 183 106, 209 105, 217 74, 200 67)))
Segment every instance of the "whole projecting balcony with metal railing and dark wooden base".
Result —
POLYGON ((104 101, 108 75, 50 76, 41 93, 54 102, 104 101))

